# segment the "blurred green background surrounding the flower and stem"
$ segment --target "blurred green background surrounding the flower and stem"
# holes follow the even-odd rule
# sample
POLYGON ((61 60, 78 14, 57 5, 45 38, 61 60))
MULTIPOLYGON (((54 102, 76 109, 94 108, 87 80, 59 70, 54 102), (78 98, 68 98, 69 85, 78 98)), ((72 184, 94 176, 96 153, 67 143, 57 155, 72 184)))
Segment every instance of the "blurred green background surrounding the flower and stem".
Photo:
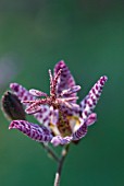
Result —
MULTIPOLYGON (((98 121, 72 146, 61 186, 123 186, 124 1, 0 1, 1 95, 10 82, 49 92, 48 69, 60 59, 82 85, 80 100, 100 75, 109 77, 98 121)), ((53 185, 55 163, 8 126, 0 113, 0 186, 53 185)))

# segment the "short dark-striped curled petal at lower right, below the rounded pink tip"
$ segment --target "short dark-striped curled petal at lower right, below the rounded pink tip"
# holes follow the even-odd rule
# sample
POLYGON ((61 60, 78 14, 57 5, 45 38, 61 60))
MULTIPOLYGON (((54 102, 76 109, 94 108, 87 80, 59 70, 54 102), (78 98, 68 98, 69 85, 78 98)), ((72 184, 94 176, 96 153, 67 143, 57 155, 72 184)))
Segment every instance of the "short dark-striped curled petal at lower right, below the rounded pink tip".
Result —
POLYGON ((87 133, 86 123, 82 124, 80 127, 72 135, 73 141, 77 141, 80 138, 85 137, 87 133))

